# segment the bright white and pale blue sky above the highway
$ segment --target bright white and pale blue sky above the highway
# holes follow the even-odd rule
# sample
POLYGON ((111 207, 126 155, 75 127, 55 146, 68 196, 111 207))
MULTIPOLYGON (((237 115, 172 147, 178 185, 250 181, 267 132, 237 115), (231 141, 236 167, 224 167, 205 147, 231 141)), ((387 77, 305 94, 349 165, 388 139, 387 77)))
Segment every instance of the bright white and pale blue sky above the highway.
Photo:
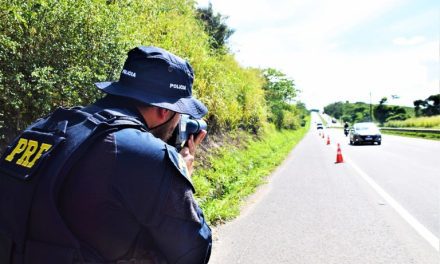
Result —
POLYGON ((440 93, 440 1, 197 1, 208 2, 235 30, 237 61, 280 70, 309 109, 383 97, 413 106, 440 93))

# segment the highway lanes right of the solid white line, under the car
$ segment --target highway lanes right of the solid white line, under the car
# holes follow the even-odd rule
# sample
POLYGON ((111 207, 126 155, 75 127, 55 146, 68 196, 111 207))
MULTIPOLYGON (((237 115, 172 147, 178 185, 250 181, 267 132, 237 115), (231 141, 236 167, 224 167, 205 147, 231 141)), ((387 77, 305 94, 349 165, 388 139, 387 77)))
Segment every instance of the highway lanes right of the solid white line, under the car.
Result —
POLYGON ((342 129, 326 129, 323 141, 367 173, 430 232, 440 237, 440 141, 382 135, 382 145, 349 145, 342 129))

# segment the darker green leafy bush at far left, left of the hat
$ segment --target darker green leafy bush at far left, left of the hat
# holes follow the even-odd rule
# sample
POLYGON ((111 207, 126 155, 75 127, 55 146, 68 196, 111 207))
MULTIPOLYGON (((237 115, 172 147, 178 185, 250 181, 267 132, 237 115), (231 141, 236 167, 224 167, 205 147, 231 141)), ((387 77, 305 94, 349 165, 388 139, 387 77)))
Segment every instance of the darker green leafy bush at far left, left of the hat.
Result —
POLYGON ((56 106, 98 96, 90 86, 114 77, 121 60, 109 41, 116 33, 116 10, 91 0, 0 1, 4 140, 56 106))

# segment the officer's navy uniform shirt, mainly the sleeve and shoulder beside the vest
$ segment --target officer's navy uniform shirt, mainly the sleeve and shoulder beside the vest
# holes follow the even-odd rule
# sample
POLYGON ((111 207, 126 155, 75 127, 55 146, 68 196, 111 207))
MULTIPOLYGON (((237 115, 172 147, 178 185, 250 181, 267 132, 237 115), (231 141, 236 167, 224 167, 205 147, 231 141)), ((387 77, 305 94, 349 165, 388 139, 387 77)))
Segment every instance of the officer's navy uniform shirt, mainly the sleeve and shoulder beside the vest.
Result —
MULTIPOLYGON (((142 120, 137 110, 124 111, 142 120)), ((60 200, 86 261, 208 261, 211 232, 178 159, 174 147, 136 129, 108 134, 91 146, 60 200)))

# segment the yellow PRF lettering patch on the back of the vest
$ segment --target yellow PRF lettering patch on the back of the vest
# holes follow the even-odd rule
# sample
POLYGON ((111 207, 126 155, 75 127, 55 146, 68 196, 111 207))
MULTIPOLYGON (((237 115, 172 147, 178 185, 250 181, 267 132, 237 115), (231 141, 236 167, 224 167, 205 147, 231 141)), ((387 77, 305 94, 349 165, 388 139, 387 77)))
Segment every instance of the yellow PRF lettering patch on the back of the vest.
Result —
POLYGON ((40 143, 32 139, 20 138, 15 148, 8 156, 6 156, 5 160, 12 162, 18 158, 15 164, 26 168, 32 168, 35 165, 35 162, 41 158, 43 153, 48 151, 51 147, 51 144, 40 143))

